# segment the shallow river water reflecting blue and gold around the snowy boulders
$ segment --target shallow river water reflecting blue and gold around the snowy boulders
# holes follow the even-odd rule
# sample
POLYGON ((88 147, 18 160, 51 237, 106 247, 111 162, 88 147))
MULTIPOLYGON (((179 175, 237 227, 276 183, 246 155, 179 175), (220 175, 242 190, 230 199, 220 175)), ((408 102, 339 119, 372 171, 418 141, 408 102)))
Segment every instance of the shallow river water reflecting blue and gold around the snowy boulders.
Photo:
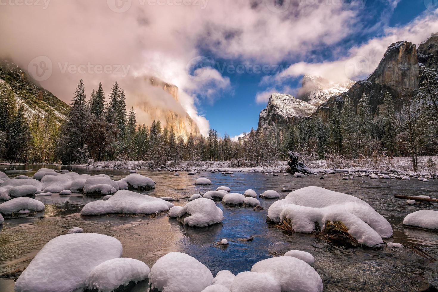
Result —
MULTIPOLYGON (((53 165, 17 165, 17 169, 33 169, 30 172, 7 172, 8 176, 32 176, 38 168, 53 165)), ((0 165, 0 171, 6 168, 0 165)), ((11 168, 11 166, 8 166, 11 168)), ((63 167, 78 173, 107 174, 117 180, 129 173, 122 169, 87 169, 63 167)), ((417 206, 405 205, 405 200, 395 199, 394 194, 427 195, 438 197, 438 180, 423 183, 415 179, 374 180, 356 178, 342 180, 343 175, 293 178, 291 176, 265 176, 262 173, 234 173, 233 177, 220 173, 203 172, 188 176, 180 172, 173 176, 168 171, 139 170, 138 173, 155 180, 156 188, 141 193, 155 197, 173 197, 173 202, 184 206, 187 197, 194 193, 215 190, 218 186, 229 186, 232 192, 243 193, 253 189, 258 194, 265 190, 283 188, 296 190, 305 186, 321 186, 359 197, 383 215, 392 225, 393 238, 385 241, 402 243, 403 250, 348 248, 328 243, 311 234, 285 234, 266 222, 269 206, 275 200, 263 200, 264 210, 253 211, 247 207, 225 207, 222 224, 206 228, 184 226, 166 215, 151 219, 148 216, 102 215, 81 216, 81 208, 99 198, 81 194, 37 197, 46 204, 45 211, 38 216, 7 219, 0 230, 0 274, 26 267, 36 253, 50 239, 66 234, 74 226, 84 232, 114 236, 123 245, 123 257, 141 260, 149 267, 160 257, 172 251, 184 252, 205 264, 213 276, 218 271, 230 270, 234 274, 249 271, 253 264, 268 257, 283 255, 288 250, 304 250, 313 254, 314 268, 324 282, 325 291, 418 291, 420 281, 428 281, 438 287, 438 232, 403 227, 403 218, 417 206), (211 186, 195 186, 194 180, 205 176, 211 186), (254 237, 253 240, 242 239, 254 237), (226 248, 214 245, 226 238, 226 248)), ((280 193, 281 198, 287 193, 280 193)), ((1 201, 0 201, 1 202, 1 201)), ((438 210, 437 205, 428 207, 438 210)), ((0 291, 13 291, 14 281, 0 278, 0 291)), ((147 283, 140 283, 135 291, 148 291, 147 283)))

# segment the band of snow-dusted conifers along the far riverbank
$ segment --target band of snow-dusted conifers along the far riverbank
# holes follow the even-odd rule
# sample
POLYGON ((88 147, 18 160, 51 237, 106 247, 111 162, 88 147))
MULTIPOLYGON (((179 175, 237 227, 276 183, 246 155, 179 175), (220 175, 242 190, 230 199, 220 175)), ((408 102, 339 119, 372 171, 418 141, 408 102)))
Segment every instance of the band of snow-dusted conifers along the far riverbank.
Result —
POLYGON ((254 130, 238 141, 210 129, 207 136, 186 139, 159 120, 138 124, 133 108, 127 112, 126 95, 117 81, 108 102, 102 83, 87 100, 81 80, 71 101, 71 111, 58 124, 53 113, 37 111, 26 118, 14 93, 0 84, 0 155, 23 162, 93 163, 145 161, 149 166, 176 165, 182 161, 231 161, 234 166, 269 165, 286 160, 289 151, 312 159, 363 159, 410 156, 417 169, 418 156, 436 153, 438 100, 436 82, 424 78, 420 94, 396 111, 392 96, 383 93, 379 115, 371 113, 363 95, 355 108, 349 97, 335 104, 331 117, 302 119, 283 131, 254 130))

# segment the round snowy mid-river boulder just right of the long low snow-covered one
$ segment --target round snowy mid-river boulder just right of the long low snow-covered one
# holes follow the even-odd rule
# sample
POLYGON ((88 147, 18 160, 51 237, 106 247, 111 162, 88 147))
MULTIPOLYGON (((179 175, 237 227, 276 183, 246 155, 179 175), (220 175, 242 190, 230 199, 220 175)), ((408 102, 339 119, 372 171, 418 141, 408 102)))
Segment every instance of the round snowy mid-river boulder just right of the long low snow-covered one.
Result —
POLYGON ((188 202, 179 212, 178 217, 183 217, 184 224, 196 227, 205 227, 208 225, 222 222, 223 212, 218 208, 214 201, 199 198, 188 202))

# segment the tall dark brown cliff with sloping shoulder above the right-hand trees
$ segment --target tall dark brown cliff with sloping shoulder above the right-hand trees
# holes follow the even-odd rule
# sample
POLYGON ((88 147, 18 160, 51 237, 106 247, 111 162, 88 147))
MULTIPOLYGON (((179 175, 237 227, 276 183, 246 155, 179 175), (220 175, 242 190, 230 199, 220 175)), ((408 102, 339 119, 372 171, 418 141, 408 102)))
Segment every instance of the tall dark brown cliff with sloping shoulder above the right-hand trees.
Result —
POLYGON ((417 50, 411 42, 396 42, 389 46, 378 67, 367 78, 358 81, 344 94, 333 96, 321 104, 314 116, 328 120, 333 106, 339 109, 347 97, 353 102, 355 109, 363 94, 370 100, 371 113, 378 116, 383 103, 383 94, 388 91, 394 99, 396 109, 401 108, 417 94, 420 84, 417 50))

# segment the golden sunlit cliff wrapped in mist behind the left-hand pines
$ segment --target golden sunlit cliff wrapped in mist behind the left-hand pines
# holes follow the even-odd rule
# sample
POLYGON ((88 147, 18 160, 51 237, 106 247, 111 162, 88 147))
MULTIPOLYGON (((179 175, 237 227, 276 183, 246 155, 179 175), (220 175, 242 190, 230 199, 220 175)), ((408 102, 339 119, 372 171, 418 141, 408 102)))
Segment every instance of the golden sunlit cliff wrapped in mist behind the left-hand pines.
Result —
MULTIPOLYGON (((142 114, 148 116, 148 120, 160 120, 162 127, 173 127, 175 135, 181 136, 187 140, 190 133, 194 137, 201 136, 198 125, 179 105, 178 87, 176 85, 166 83, 156 77, 147 77, 145 81, 154 88, 161 88, 154 92, 153 98, 140 99, 136 102, 136 109, 143 111, 142 114), (166 102, 165 95, 171 95, 178 106, 171 107, 170 102, 166 102), (158 100, 163 97, 163 100, 158 100)), ((175 103, 175 102, 174 102, 175 103)))

